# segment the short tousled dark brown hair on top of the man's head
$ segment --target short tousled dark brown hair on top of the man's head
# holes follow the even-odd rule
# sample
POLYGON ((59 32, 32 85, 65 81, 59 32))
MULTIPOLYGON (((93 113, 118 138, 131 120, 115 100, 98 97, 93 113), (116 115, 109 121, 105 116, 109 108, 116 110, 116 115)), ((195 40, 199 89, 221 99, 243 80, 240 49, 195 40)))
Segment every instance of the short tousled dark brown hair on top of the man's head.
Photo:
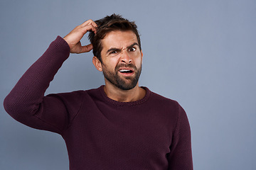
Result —
POLYGON ((125 18, 122 18, 122 16, 112 14, 112 16, 106 16, 105 18, 95 21, 95 23, 97 23, 97 33, 95 34, 90 32, 88 38, 93 46, 93 55, 95 55, 100 62, 102 62, 100 53, 103 48, 101 40, 105 38, 107 33, 110 33, 113 30, 132 30, 132 32, 134 32, 134 34, 137 36, 139 50, 142 50, 137 26, 133 21, 131 22, 125 18))

